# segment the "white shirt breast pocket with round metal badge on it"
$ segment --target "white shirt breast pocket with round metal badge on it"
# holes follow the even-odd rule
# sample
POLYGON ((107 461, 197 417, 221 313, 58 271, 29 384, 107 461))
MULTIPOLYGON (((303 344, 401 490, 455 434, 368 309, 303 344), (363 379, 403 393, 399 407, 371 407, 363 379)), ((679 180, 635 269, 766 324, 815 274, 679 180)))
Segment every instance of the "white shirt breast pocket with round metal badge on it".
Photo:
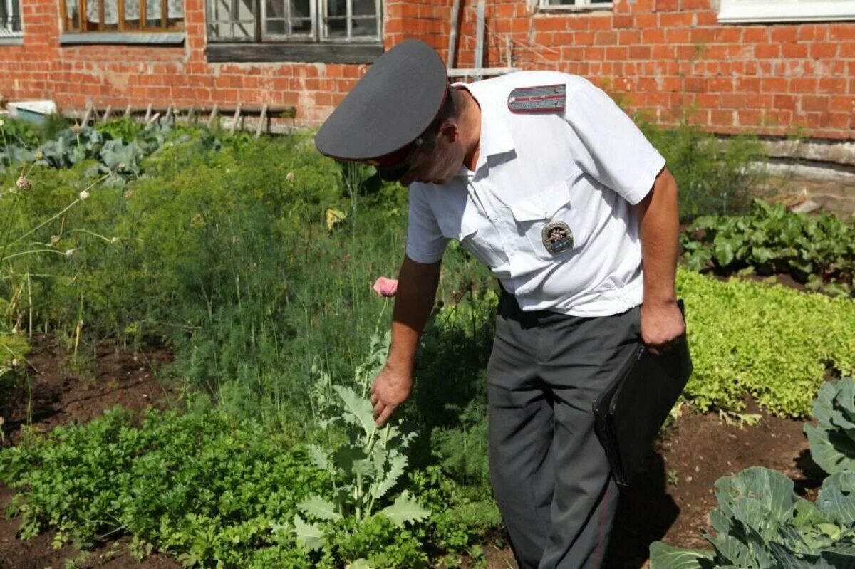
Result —
POLYGON ((567 259, 578 253, 587 240, 588 220, 574 207, 573 180, 573 177, 563 179, 533 196, 508 204, 522 246, 540 260, 567 259), (564 238, 564 232, 568 231, 572 244, 566 248, 557 246, 557 239, 564 238), (547 243, 552 250, 547 249, 547 243))

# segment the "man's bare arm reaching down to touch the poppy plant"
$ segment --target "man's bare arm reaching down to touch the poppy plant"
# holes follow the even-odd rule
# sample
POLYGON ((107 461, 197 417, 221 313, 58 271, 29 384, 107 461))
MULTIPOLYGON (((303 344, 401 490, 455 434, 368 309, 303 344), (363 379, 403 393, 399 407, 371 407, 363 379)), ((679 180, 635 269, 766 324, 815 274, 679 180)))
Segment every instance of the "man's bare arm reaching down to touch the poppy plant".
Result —
POLYGON ((404 256, 398 273, 398 292, 392 310, 392 346, 386 366, 374 379, 371 402, 374 420, 383 425, 413 388, 416 348, 430 318, 440 263, 417 263, 404 256))

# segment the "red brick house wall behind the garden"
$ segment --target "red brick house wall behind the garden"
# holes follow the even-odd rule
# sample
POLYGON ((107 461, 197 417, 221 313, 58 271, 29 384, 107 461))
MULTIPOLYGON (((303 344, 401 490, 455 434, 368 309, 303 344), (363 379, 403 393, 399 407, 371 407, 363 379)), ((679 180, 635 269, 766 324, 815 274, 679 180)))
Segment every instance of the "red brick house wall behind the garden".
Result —
MULTIPOLYGON (((684 115, 716 132, 855 138, 855 22, 725 25, 715 0, 616 0, 612 11, 532 13, 489 0, 487 65, 592 79, 628 109, 672 124, 684 115)), ((295 105, 317 124, 363 65, 208 63, 203 0, 186 0, 186 44, 60 47, 57 0, 21 0, 24 44, 0 46, 0 94, 65 108, 147 103, 295 105)), ((387 0, 386 47, 422 38, 445 57, 451 0, 387 0)), ((475 0, 463 0, 457 67, 472 67, 475 0)))

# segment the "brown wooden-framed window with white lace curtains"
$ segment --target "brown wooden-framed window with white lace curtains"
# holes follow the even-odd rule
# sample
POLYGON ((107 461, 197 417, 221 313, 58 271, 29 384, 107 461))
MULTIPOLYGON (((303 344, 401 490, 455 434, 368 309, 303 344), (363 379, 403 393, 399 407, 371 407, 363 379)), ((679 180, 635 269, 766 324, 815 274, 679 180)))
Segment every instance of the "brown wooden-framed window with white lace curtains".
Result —
POLYGON ((60 5, 64 32, 184 29, 184 0, 60 0, 60 5))

